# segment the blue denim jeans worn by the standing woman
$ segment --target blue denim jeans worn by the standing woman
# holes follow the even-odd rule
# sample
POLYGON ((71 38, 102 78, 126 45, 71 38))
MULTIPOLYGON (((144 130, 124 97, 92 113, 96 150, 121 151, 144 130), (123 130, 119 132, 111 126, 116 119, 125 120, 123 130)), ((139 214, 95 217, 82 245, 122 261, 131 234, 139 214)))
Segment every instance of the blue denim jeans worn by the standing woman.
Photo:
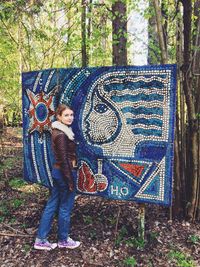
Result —
MULTIPOLYGON (((74 183, 75 173, 73 171, 74 183)), ((47 239, 54 215, 58 212, 58 240, 66 241, 70 229, 70 215, 74 206, 75 190, 73 192, 69 191, 67 183, 63 180, 61 170, 54 168, 52 177, 54 186, 40 220, 37 238, 41 240, 47 239)))

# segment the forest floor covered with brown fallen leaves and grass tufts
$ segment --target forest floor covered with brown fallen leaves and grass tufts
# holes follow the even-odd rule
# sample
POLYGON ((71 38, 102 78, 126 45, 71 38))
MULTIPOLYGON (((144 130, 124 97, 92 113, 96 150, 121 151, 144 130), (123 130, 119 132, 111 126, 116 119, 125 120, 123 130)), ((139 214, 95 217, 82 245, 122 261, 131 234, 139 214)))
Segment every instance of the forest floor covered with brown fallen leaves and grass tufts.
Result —
MULTIPOLYGON (((37 251, 33 243, 48 190, 22 180, 20 129, 3 136, 0 162, 0 267, 200 267, 200 225, 169 220, 169 208, 146 204, 145 240, 138 238, 139 205, 79 195, 71 237, 75 250, 37 251), (4 171, 3 171, 4 170, 4 171)), ((56 220, 50 241, 56 240, 56 220)))

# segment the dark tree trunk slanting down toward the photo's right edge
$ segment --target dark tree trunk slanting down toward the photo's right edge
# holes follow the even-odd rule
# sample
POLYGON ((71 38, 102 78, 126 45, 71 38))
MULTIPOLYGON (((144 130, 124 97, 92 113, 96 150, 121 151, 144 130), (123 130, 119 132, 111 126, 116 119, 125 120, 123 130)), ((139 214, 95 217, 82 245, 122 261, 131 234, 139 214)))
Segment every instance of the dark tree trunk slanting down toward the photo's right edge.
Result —
POLYGON ((198 122, 196 119, 191 74, 191 32, 192 32, 192 0, 182 0, 184 24, 184 64, 183 90, 188 113, 188 147, 187 169, 190 170, 190 195, 188 198, 187 218, 194 221, 198 205, 198 122))

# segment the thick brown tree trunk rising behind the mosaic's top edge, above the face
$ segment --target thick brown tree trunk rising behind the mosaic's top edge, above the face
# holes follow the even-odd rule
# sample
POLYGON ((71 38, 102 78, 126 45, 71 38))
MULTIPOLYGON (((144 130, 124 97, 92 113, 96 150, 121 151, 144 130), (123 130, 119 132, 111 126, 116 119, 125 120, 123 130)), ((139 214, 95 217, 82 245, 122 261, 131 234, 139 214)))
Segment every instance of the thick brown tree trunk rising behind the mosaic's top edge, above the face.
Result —
POLYGON ((124 1, 114 2, 112 15, 113 65, 127 65, 127 17, 124 1))

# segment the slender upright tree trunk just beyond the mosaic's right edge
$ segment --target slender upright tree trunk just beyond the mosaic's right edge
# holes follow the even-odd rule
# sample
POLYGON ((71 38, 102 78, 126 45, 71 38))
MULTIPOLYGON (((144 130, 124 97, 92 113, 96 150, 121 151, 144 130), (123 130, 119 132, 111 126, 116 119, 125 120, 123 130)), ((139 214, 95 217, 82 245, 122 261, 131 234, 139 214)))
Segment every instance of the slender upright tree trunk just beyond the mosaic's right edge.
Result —
MULTIPOLYGON (((179 6, 177 13, 180 13, 179 6)), ((183 62, 183 29, 182 21, 177 19, 176 26, 176 61, 178 65, 183 62)), ((175 139, 175 160, 174 160, 174 203, 173 215, 180 217, 185 214, 185 100, 182 88, 182 73, 177 69, 177 110, 176 110, 176 139, 175 139)))

